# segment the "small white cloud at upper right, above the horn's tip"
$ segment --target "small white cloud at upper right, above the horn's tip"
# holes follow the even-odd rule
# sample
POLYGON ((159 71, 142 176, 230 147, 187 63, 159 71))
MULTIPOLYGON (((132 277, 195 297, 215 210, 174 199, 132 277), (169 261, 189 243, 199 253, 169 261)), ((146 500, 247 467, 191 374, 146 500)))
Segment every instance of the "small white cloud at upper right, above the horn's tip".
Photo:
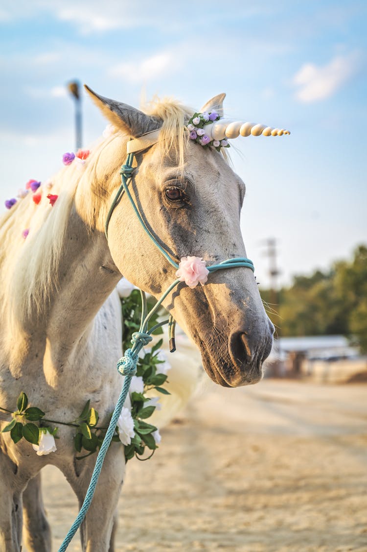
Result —
POLYGON ((296 98, 304 103, 329 98, 355 75, 359 65, 357 52, 336 56, 323 66, 305 63, 293 78, 293 83, 299 87, 296 98))

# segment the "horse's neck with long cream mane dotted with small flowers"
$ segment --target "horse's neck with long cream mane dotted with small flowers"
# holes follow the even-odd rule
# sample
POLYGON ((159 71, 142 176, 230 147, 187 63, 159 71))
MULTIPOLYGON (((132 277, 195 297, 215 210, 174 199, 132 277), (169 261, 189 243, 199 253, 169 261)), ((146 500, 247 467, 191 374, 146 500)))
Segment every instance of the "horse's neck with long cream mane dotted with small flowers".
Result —
MULTIPOLYGON (((56 177, 52 193, 60 193, 60 204, 52 208, 55 211, 46 204, 39 205, 35 216, 42 219, 41 210, 46 208, 49 214, 44 216, 43 226, 31 227, 28 243, 19 243, 21 230, 14 225, 14 242, 19 243, 19 250, 8 270, 8 319, 13 331, 17 327, 23 336, 34 335, 37 328, 51 341, 59 341, 62 336, 65 347, 72 346, 86 332, 121 277, 100 223, 108 201, 104 203, 103 193, 98 193, 103 176, 104 194, 108 195, 108 179, 116 178, 116 171, 108 163, 108 156, 107 164, 100 161, 100 151, 94 156, 98 163, 91 160, 82 176, 75 170, 68 172, 67 167, 56 177), (76 178, 76 182, 63 190, 67 177, 76 178)), ((29 209, 34 209, 32 202, 28 203, 29 209)))

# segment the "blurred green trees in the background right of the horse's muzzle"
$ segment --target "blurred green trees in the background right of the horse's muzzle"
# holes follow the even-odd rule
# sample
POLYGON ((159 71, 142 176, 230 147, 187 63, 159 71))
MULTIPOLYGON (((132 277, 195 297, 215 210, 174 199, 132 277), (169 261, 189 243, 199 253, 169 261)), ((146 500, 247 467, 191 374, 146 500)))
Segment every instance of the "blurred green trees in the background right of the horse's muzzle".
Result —
POLYGON ((342 334, 367 352, 367 247, 354 251, 352 262, 333 263, 327 272, 297 275, 278 294, 279 305, 263 290, 265 309, 283 336, 342 334))

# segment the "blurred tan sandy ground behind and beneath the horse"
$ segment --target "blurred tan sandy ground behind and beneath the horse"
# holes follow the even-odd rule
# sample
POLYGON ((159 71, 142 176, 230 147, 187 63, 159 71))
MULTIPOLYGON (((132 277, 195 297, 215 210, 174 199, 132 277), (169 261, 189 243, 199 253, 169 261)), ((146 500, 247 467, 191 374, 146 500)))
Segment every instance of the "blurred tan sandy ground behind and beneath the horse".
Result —
MULTIPOLYGON (((367 551, 366 421, 366 384, 205 383, 155 456, 127 465, 116 550, 367 551)), ((43 476, 57 550, 76 499, 43 476)))

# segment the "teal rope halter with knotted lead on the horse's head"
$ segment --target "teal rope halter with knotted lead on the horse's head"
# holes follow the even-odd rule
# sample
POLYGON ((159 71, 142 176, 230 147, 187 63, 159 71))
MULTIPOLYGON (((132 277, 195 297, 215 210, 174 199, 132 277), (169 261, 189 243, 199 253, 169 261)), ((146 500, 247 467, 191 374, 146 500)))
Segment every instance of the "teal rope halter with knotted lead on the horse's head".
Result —
MULTIPOLYGON (((167 251, 163 249, 161 245, 157 242, 156 238, 153 236, 153 234, 148 230, 145 222, 143 221, 139 209, 137 209, 137 206, 134 203, 134 199, 132 199, 130 190, 128 187, 128 181, 130 181, 132 172, 134 169, 132 168, 132 162, 134 160, 134 153, 129 153, 127 155, 126 163, 121 167, 120 174, 121 174, 121 185, 118 189, 118 192, 115 195, 115 198, 111 204, 111 207, 108 211, 107 219, 105 222, 105 235, 108 239, 108 225, 111 218, 111 215, 113 213, 113 210, 115 209, 116 205, 118 204, 119 200, 121 199, 122 195, 126 193, 127 197, 130 200, 130 203, 135 211, 136 216, 138 217, 140 224, 142 225, 143 229, 147 233, 147 235, 151 238, 154 245, 158 248, 158 250, 163 254, 163 256, 167 259, 169 263, 172 264, 173 267, 179 268, 178 264, 169 256, 167 251)), ((238 267, 245 267, 250 268, 252 272, 254 272, 254 266, 253 262, 250 261, 250 259, 247 259, 246 257, 237 257, 233 259, 227 259, 226 261, 222 261, 219 264, 214 264, 210 267, 207 267, 209 270, 209 273, 216 272, 217 270, 227 269, 227 268, 238 268, 238 267)), ((174 282, 169 285, 169 287, 164 291, 162 297, 157 301, 156 305, 150 310, 150 312, 147 312, 147 300, 145 292, 140 290, 141 293, 141 302, 142 302, 142 311, 141 311, 141 323, 139 332, 135 332, 132 334, 132 347, 130 349, 127 349, 125 351, 125 354, 123 357, 120 358, 120 360, 117 363, 117 369, 119 373, 123 376, 125 376, 123 389, 121 390, 121 394, 119 396, 119 399, 116 403, 115 410, 113 411, 113 415, 111 417, 111 421, 109 423, 107 432, 105 434, 103 443, 99 449, 99 453, 97 455, 97 460, 95 461, 95 466, 93 469, 93 474, 91 477, 91 482, 89 483, 88 490, 86 493, 86 497, 84 498, 83 505, 78 513, 78 516, 75 520, 75 522, 72 524, 70 530, 68 531, 65 539, 63 540, 58 552, 65 552, 68 545, 71 542, 71 539, 74 537, 75 533, 77 532, 78 528, 81 526, 81 523, 86 517, 86 513, 88 511, 89 506, 91 505, 93 494, 95 491, 95 487, 97 486, 98 477, 100 474, 100 471, 102 470, 103 460, 107 453, 108 447, 110 445, 111 439, 114 435, 116 424, 118 422, 119 416, 121 414, 121 410, 123 409, 127 394, 129 392, 131 378, 136 374, 136 365, 137 365, 137 359, 139 357, 139 353, 141 349, 150 341, 152 341, 151 334, 157 330, 158 327, 163 326, 165 324, 168 324, 168 336, 169 336, 169 348, 171 349, 171 352, 175 351, 175 344, 174 344, 174 326, 175 322, 173 320, 172 315, 169 315, 168 320, 164 320, 163 322, 159 322, 154 327, 151 328, 151 330, 148 331, 148 322, 150 321, 151 317, 155 312, 159 309, 159 307, 162 305, 162 302, 164 299, 166 299, 167 295, 171 293, 171 291, 181 282, 181 280, 178 278, 174 280, 174 282)))

